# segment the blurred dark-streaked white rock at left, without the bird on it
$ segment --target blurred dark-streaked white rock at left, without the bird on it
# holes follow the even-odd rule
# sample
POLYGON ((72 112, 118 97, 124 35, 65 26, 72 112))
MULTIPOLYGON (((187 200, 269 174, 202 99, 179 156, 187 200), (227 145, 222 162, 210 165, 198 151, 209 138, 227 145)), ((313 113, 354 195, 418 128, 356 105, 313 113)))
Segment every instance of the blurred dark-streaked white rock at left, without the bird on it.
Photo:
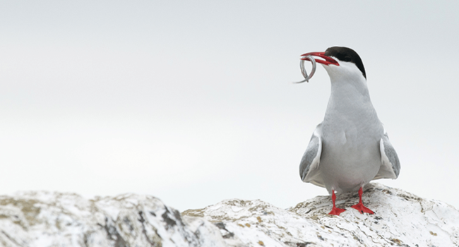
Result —
POLYGON ((148 195, 87 200, 71 193, 0 197, 0 246, 225 246, 203 219, 148 195))

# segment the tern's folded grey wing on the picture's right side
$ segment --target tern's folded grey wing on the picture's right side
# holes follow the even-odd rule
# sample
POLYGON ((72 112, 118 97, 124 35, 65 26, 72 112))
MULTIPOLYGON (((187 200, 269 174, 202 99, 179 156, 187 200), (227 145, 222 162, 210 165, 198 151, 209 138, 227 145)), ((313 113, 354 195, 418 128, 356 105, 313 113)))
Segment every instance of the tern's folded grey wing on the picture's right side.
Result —
POLYGON ((381 150, 381 167, 374 179, 397 179, 400 173, 400 161, 386 131, 379 141, 379 149, 381 150))

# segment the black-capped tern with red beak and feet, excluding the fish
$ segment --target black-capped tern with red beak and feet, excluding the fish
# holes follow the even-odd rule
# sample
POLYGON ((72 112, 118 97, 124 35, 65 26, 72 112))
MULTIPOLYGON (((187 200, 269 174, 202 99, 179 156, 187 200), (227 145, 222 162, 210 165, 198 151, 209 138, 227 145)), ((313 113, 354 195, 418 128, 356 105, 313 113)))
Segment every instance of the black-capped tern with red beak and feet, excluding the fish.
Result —
POLYGON ((335 193, 359 193, 352 208, 374 214, 362 203, 363 188, 371 180, 397 179, 400 161, 383 123, 371 104, 364 64, 348 47, 330 47, 318 56, 330 77, 330 98, 323 121, 316 126, 299 164, 305 183, 325 187, 332 196, 330 215, 345 209, 335 205, 335 193), (324 59, 324 60, 322 60, 324 59))

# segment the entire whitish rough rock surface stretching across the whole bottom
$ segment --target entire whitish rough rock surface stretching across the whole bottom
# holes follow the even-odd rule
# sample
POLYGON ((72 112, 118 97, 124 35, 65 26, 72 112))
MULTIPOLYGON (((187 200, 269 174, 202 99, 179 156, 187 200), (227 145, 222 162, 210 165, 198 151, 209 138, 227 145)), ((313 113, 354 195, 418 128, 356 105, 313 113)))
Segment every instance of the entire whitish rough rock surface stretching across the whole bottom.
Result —
POLYGON ((181 214, 148 195, 88 200, 71 193, 0 196, 0 246, 459 246, 459 211, 378 183, 364 190, 376 213, 329 196, 282 209, 261 200, 224 200, 181 214))

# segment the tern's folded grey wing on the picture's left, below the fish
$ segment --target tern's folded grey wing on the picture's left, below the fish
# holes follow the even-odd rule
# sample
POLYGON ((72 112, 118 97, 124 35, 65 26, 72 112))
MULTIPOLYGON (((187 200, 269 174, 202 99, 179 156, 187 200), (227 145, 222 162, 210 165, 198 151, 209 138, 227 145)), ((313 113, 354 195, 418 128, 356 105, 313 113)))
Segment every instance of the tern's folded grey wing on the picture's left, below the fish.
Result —
POLYGON ((322 152, 322 123, 320 123, 309 140, 302 162, 299 164, 299 176, 305 183, 325 187, 318 165, 321 163, 322 152))

